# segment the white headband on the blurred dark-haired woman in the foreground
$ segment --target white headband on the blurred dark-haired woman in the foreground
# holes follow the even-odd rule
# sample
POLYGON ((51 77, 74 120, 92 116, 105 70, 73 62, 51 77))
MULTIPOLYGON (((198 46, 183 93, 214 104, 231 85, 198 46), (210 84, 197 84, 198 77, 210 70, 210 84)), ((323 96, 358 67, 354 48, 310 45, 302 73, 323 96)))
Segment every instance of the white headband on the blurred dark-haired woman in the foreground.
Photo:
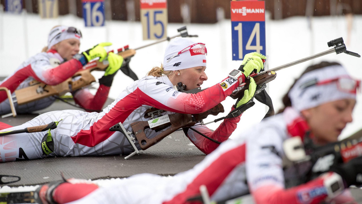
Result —
POLYGON ((288 93, 292 107, 298 111, 303 111, 331 101, 356 99, 355 93, 341 91, 337 87, 337 82, 307 86, 308 83, 313 84, 340 77, 350 78, 345 68, 341 65, 327 66, 307 72, 296 81, 288 93))

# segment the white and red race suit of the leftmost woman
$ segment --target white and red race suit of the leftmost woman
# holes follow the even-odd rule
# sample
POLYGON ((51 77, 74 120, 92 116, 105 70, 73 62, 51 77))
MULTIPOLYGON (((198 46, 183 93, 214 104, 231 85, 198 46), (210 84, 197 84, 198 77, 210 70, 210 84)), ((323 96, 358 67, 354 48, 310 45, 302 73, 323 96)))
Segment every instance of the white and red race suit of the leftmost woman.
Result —
MULTIPOLYGON (((13 74, 0 82, 0 87, 6 87, 13 93, 16 89, 30 86, 29 83, 33 80, 53 86, 72 77, 81 68, 83 68, 82 64, 76 59, 64 62, 59 53, 55 50, 48 50, 23 62, 13 74)), ((76 103, 81 107, 90 110, 101 110, 107 100, 109 89, 110 87, 101 84, 95 96, 87 88, 72 91, 76 103)), ((13 94, 14 96, 15 94, 13 94)), ((18 114, 25 114, 49 107, 55 100, 55 97, 50 96, 22 105, 15 102, 14 105, 18 114)), ((4 91, 1 91, 0 115, 10 112, 7 95, 4 91)))

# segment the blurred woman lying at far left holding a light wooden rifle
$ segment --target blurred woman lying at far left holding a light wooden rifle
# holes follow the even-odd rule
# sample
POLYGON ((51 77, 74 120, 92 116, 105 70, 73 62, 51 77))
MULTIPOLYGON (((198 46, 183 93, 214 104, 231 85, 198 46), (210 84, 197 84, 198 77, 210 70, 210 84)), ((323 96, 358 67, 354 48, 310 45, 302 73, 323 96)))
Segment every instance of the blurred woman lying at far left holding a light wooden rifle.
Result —
MULTIPOLYGON (((8 88, 12 93, 15 89, 30 86, 33 80, 43 82, 47 85, 56 85, 72 77, 80 71, 88 61, 100 57, 102 62, 107 57, 103 48, 111 43, 100 43, 93 48, 79 53, 80 30, 74 27, 55 26, 48 36, 48 46, 44 47, 41 53, 30 57, 23 62, 17 70, 0 82, 0 87, 8 88)), ((87 88, 72 90, 74 100, 86 110, 101 110, 107 100, 110 86, 117 70, 121 68, 123 58, 120 55, 110 52, 107 60, 109 66, 104 76, 99 79, 100 87, 95 96, 87 88)), ((14 96, 15 94, 13 94, 14 96)), ((31 113, 49 107, 55 97, 50 96, 24 105, 14 103, 18 114, 31 113)), ((5 91, 0 92, 0 115, 11 112, 9 99, 5 91)))

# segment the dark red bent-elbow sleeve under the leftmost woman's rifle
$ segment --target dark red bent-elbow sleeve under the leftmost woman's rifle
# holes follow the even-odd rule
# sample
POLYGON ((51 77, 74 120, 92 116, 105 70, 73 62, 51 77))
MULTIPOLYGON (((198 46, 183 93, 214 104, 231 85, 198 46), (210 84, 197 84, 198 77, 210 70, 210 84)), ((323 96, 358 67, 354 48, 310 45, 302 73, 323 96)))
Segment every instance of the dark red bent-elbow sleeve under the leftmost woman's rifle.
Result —
POLYGON ((101 84, 94 96, 88 89, 81 89, 74 94, 75 103, 88 112, 101 111, 108 99, 109 89, 110 87, 101 84))

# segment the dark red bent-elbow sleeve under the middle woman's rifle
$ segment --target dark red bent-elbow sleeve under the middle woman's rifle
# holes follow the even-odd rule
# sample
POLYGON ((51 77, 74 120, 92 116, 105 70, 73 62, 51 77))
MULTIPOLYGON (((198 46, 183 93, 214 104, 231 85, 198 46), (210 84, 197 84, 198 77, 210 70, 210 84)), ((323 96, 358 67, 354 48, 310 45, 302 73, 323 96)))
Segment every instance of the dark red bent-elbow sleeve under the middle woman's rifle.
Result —
MULTIPOLYGON (((231 110, 233 109, 235 108, 232 107, 231 110)), ((234 132, 237 123, 240 121, 240 117, 241 115, 235 118, 224 119, 224 121, 219 125, 218 128, 216 128, 215 131, 211 131, 205 125, 195 125, 192 128, 201 132, 202 134, 205 134, 207 137, 210 137, 219 142, 223 142, 231 136, 232 132, 234 132)), ((194 145, 199 150, 201 150, 205 154, 210 154, 219 146, 218 143, 201 136, 200 134, 191 129, 188 130, 186 136, 190 139, 192 143, 194 143, 194 145)))

